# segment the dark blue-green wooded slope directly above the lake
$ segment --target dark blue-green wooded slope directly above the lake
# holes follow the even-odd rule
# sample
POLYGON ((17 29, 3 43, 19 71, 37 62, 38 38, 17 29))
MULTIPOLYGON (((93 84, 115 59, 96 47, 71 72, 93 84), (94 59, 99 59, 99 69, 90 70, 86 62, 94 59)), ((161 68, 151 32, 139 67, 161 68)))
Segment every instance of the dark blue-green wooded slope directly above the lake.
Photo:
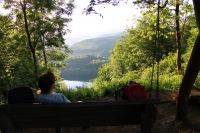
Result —
POLYGON ((96 55, 70 57, 66 61, 66 68, 61 69, 61 77, 67 80, 89 81, 97 77, 99 67, 107 62, 106 57, 96 55))

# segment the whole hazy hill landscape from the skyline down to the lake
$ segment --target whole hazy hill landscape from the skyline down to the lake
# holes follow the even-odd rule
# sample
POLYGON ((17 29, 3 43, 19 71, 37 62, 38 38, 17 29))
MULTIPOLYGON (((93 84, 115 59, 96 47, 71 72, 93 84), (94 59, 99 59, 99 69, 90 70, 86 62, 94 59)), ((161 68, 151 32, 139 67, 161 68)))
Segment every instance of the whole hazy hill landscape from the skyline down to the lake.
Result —
POLYGON ((66 68, 61 69, 61 77, 65 80, 78 81, 96 78, 99 67, 108 62, 109 51, 124 34, 124 32, 101 34, 101 37, 85 39, 69 45, 73 54, 66 61, 66 68))

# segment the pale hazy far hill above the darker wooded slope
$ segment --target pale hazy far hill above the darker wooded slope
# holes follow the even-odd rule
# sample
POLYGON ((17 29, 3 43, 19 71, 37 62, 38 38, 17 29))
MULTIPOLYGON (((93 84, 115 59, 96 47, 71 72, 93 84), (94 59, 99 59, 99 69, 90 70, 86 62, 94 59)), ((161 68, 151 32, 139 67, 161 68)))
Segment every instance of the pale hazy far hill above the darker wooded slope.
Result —
POLYGON ((109 51, 113 48, 114 44, 116 44, 117 40, 124 33, 116 33, 113 36, 102 35, 106 37, 98 37, 93 39, 86 39, 80 42, 77 42, 69 48, 73 50, 73 56, 79 55, 101 55, 104 57, 109 57, 109 51))

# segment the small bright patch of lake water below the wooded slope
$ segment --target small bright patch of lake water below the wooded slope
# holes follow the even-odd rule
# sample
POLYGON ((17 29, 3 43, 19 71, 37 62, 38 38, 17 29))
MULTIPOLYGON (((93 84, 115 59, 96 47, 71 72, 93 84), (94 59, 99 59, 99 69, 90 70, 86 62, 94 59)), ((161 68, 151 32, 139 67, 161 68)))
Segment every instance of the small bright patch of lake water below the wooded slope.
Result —
POLYGON ((86 81, 76 81, 76 80, 64 80, 65 84, 67 85, 68 88, 77 88, 81 86, 90 86, 91 82, 86 82, 86 81))

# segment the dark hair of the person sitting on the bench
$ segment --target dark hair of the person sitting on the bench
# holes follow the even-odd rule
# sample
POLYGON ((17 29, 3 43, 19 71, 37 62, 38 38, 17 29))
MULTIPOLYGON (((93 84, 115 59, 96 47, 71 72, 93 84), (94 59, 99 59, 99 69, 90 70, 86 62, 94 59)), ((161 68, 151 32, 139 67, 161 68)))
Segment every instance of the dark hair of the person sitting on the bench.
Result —
POLYGON ((53 87, 56 78, 52 72, 42 73, 38 78, 38 87, 42 93, 47 93, 53 87))

